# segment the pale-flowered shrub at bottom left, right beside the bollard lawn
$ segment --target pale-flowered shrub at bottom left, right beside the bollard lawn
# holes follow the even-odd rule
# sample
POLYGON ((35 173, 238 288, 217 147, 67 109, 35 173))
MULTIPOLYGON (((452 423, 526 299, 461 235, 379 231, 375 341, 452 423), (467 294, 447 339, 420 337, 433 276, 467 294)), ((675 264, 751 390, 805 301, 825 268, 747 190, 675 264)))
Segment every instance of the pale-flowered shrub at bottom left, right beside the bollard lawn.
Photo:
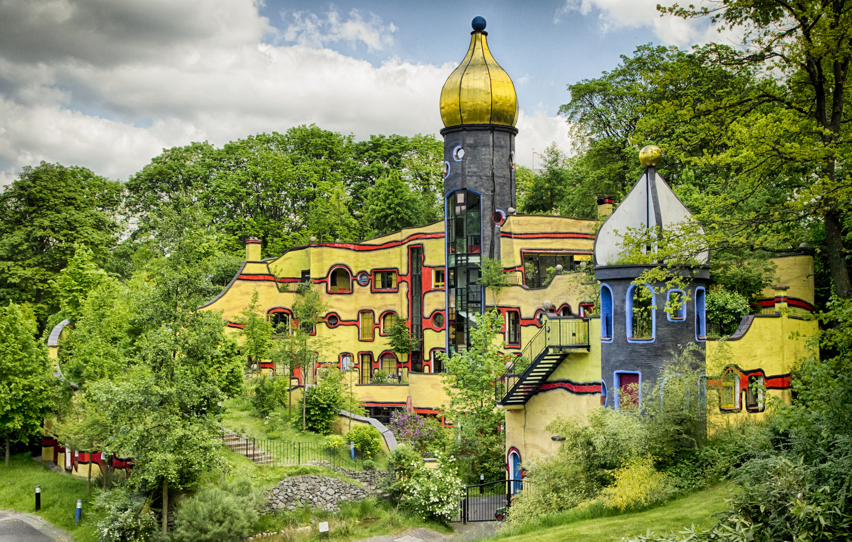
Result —
POLYGON ((101 493, 95 505, 106 512, 97 524, 99 542, 153 542, 157 539, 157 519, 143 512, 144 499, 119 487, 101 493))

